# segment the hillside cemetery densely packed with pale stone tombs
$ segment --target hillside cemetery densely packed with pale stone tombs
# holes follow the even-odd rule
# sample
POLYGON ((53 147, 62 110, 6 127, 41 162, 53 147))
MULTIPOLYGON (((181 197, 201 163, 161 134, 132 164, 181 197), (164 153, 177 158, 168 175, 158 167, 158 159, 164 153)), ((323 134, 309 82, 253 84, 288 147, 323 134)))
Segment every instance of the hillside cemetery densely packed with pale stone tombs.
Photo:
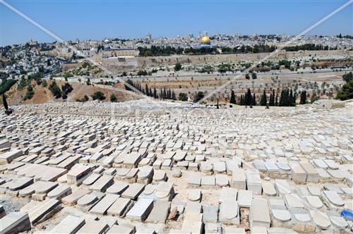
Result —
POLYGON ((0 233, 352 233, 352 112, 16 106, 0 233))

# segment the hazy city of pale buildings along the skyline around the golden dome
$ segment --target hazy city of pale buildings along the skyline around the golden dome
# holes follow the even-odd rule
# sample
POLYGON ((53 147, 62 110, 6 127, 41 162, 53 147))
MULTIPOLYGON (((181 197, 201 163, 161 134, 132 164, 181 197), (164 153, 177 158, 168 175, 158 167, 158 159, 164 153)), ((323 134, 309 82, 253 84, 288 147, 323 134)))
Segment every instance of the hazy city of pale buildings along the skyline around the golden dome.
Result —
MULTIPOLYGON (((174 48, 195 48, 202 47, 220 48, 230 47, 238 49, 242 46, 253 47, 256 44, 267 44, 268 46, 280 47, 294 39, 294 36, 287 35, 188 35, 185 37, 159 37, 153 38, 150 33, 143 39, 118 39, 107 38, 104 40, 78 39, 68 42, 54 42, 38 44, 30 40, 24 45, 3 47, 0 50, 0 71, 18 78, 25 73, 36 73, 45 71, 53 73, 58 70, 63 61, 74 61, 76 58, 89 56, 97 62, 104 59, 117 58, 124 61, 124 58, 133 58, 140 55, 138 48, 145 47, 174 47, 174 48)), ((291 46, 302 44, 320 44, 325 48, 352 50, 353 39, 337 36, 309 36, 304 35, 294 39, 291 46)), ((220 53, 222 51, 219 49, 220 53)))

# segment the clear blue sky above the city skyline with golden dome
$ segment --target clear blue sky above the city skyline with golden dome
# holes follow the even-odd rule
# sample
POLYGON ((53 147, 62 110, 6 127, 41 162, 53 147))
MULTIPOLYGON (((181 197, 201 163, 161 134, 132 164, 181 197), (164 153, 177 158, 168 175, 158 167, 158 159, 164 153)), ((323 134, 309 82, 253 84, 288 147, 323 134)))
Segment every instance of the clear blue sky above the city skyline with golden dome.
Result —
MULTIPOLYGON (((64 40, 223 33, 297 35, 347 0, 4 0, 64 40)), ((1 1, 0 1, 1 2, 1 1)), ((353 35, 353 4, 308 35, 353 35)), ((0 47, 54 42, 0 3, 0 47)))

